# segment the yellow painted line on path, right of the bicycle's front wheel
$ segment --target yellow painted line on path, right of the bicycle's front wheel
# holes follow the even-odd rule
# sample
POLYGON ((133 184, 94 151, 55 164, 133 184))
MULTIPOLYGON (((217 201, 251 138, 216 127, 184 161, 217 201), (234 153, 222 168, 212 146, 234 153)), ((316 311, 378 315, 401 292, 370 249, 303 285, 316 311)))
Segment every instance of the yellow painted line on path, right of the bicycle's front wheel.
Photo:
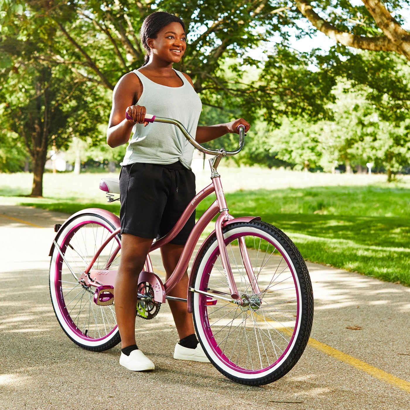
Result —
POLYGON ((312 339, 312 337, 309 338, 308 345, 312 346, 316 350, 319 350, 329 356, 336 358, 337 360, 340 360, 341 362, 348 363, 356 369, 365 371, 366 373, 378 378, 379 380, 384 381, 385 383, 390 383, 391 385, 399 387, 400 389, 403 389, 406 392, 410 393, 410 382, 406 380, 393 376, 392 374, 380 370, 377 367, 373 367, 366 362, 362 362, 362 360, 356 359, 352 356, 347 355, 346 353, 328 346, 327 344, 312 339))

